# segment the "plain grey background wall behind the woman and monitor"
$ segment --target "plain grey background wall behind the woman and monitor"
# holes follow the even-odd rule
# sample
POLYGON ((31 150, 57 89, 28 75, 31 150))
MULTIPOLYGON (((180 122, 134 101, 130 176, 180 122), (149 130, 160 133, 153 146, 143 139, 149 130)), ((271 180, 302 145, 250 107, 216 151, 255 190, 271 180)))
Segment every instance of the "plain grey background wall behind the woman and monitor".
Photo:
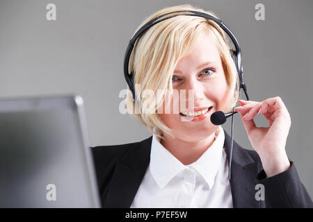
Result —
MULTIPOLYGON (((250 99, 280 96, 291 115, 287 154, 313 196, 313 1, 0 1, 0 97, 80 94, 91 146, 138 142, 150 132, 127 114, 122 65, 135 29, 153 12, 183 3, 212 10, 243 53, 250 99), (56 4, 56 21, 46 6, 56 4), (264 3, 265 21, 255 20, 264 3)), ((244 97, 242 97, 244 99, 244 97)), ((266 126, 256 117, 259 126, 266 126)), ((230 133, 230 120, 223 125, 230 133)), ((234 139, 252 149, 239 116, 234 139)))

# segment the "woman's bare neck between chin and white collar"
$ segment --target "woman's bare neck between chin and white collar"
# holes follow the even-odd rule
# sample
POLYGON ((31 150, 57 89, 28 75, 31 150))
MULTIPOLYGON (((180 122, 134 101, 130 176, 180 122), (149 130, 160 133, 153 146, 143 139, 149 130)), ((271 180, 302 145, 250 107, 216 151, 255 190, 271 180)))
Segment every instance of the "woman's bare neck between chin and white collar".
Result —
POLYGON ((186 141, 179 138, 166 137, 161 144, 184 165, 192 164, 214 143, 215 132, 198 141, 186 141))

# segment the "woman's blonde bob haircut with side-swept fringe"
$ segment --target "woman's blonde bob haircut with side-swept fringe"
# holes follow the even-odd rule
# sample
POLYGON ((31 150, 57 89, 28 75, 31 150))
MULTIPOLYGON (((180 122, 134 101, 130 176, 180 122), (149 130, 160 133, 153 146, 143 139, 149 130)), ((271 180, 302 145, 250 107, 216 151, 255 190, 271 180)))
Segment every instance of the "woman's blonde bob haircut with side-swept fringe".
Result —
MULTIPOLYGON (((204 11, 191 5, 172 6, 163 8, 147 17, 138 26, 135 33, 151 19, 179 10, 196 10, 218 18, 214 12, 204 11)), ((134 85, 136 99, 140 105, 138 108, 138 105, 132 99, 130 90, 128 90, 126 97, 127 110, 147 126, 151 133, 154 133, 161 139, 163 139, 164 133, 173 138, 175 136, 157 112, 166 98, 166 90, 160 89, 167 89, 167 92, 172 92, 172 74, 177 62, 184 56, 187 56, 193 49, 195 40, 201 33, 210 33, 218 48, 227 81, 227 112, 230 112, 239 98, 239 77, 230 53, 230 44, 228 44, 225 37, 227 34, 215 22, 196 16, 177 16, 166 19, 145 31, 138 38, 134 45, 134 50, 131 52, 129 73, 131 71, 136 73, 134 85), (138 87, 138 84, 140 87, 138 87), (143 96, 142 92, 145 89, 158 96, 143 96)))

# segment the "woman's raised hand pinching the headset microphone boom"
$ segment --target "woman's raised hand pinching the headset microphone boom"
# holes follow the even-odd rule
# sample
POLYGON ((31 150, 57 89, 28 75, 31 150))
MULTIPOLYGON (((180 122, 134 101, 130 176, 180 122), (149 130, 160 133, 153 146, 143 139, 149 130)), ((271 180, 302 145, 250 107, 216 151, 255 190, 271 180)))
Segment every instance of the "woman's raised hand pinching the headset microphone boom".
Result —
POLYGON ((291 126, 287 108, 280 97, 262 102, 239 100, 240 107, 234 108, 241 115, 248 139, 259 155, 267 177, 286 171, 290 167, 285 146, 291 126), (256 127, 253 118, 263 114, 269 127, 256 127))

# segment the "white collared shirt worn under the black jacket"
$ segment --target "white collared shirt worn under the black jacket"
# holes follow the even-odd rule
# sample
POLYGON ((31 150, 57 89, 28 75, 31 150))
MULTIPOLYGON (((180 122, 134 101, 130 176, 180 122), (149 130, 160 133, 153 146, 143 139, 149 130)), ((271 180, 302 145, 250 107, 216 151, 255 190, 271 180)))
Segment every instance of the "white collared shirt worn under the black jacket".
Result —
POLYGON ((177 160, 152 136, 150 164, 130 207, 233 207, 224 130, 189 165, 177 160))

